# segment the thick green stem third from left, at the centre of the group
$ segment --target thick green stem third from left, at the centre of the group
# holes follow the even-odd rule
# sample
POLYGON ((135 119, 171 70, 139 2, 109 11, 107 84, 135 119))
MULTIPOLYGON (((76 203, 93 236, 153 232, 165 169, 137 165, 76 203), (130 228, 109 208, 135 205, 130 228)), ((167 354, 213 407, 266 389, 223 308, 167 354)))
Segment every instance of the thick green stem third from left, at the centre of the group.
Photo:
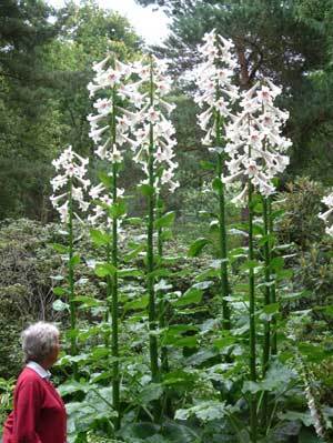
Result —
MULTIPOLYGON (((150 105, 154 104, 154 87, 153 87, 153 64, 150 58, 150 105)), ((148 244, 147 244, 147 285, 149 293, 149 350, 150 350, 150 366, 152 380, 159 380, 159 354, 158 340, 154 334, 157 329, 157 313, 155 313, 155 290, 154 290, 154 251, 153 251, 153 229, 154 229, 154 207, 155 207, 155 190, 154 190, 154 130, 153 124, 150 123, 149 129, 149 159, 148 173, 150 192, 148 197, 148 244)))

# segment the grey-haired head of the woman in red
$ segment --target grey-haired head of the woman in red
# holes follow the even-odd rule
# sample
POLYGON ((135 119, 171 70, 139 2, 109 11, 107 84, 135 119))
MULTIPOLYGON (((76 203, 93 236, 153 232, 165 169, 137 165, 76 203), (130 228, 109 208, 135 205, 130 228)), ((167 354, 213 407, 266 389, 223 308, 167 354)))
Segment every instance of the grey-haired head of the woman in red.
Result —
POLYGON ((58 343, 59 334, 52 323, 38 322, 27 328, 21 335, 26 363, 41 363, 48 358, 58 343))

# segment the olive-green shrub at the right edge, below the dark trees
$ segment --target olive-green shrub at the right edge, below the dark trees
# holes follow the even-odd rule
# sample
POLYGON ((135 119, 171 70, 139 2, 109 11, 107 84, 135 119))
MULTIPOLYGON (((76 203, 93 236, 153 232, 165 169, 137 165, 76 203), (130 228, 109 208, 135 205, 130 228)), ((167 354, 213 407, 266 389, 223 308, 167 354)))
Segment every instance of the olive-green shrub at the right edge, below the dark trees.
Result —
MULTIPOLYGON (((290 244, 286 261, 293 268, 294 291, 307 291, 306 298, 291 300, 292 309, 325 306, 333 301, 332 240, 325 235, 324 223, 317 218, 324 194, 323 185, 303 178, 287 184, 286 191, 278 198, 285 211, 278 225, 278 235, 290 244)), ((331 322, 324 311, 317 310, 314 315, 331 322)))

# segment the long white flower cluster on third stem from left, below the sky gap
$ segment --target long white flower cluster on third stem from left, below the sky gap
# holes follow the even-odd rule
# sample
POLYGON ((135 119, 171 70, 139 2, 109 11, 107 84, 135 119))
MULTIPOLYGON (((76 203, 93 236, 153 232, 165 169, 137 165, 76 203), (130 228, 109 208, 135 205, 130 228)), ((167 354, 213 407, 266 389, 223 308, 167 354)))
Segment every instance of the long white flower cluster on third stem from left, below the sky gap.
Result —
MULTIPOLYGON (((149 177, 149 158, 150 154, 153 155, 155 189, 159 190, 165 184, 173 192, 179 187, 179 182, 174 180, 178 167, 173 151, 176 144, 175 130, 168 119, 174 105, 163 99, 171 90, 171 79, 167 75, 167 69, 168 64, 155 57, 133 64, 133 71, 139 78, 135 84, 140 84, 142 91, 152 88, 153 98, 147 92, 141 94, 137 129, 133 138, 128 141, 134 152, 134 161, 141 164, 147 177, 149 177), (153 144, 152 152, 150 152, 151 143, 153 144)), ((142 183, 148 183, 148 179, 142 183)))

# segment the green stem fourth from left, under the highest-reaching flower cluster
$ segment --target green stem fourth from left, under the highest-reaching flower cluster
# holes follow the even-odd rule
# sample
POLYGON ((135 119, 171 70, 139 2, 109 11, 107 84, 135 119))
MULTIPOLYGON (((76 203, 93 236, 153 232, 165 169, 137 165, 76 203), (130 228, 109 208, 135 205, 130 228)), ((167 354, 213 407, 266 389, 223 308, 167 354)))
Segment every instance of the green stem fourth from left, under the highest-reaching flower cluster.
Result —
MULTIPOLYGON (((221 114, 216 113, 215 124, 216 124, 216 143, 218 147, 222 144, 221 137, 221 114)), ((228 246, 226 246, 226 229, 225 229, 225 198, 224 198, 224 184, 222 183, 224 168, 224 155, 223 153, 218 153, 218 168, 216 173, 220 181, 219 185, 219 230, 220 230, 220 253, 221 253, 221 274, 220 274, 220 284, 221 284, 221 298, 222 298, 222 316, 223 316, 223 329, 230 330, 230 306, 228 296, 230 294, 229 291, 229 281, 228 281, 228 246)))

